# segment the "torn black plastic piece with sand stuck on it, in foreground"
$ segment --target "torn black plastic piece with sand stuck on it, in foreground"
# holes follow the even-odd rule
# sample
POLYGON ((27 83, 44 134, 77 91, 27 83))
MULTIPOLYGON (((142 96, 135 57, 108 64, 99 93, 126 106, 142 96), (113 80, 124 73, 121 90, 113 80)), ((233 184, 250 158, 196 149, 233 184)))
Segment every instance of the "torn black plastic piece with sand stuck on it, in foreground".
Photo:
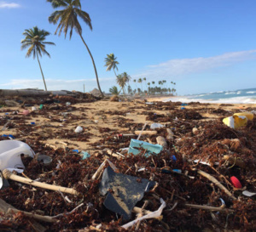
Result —
POLYGON ((155 182, 145 178, 114 173, 111 167, 104 170, 100 184, 101 195, 107 195, 104 206, 113 212, 119 213, 123 219, 131 218, 131 210, 137 201, 143 199, 144 192, 154 187, 155 182), (109 191, 111 190, 111 191, 109 191))

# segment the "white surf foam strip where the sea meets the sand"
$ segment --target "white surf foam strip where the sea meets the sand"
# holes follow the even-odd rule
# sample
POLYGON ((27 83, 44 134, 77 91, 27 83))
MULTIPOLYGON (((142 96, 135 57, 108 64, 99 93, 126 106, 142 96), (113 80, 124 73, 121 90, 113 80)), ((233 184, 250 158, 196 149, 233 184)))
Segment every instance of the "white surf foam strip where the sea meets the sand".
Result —
POLYGON ((201 102, 201 103, 216 103, 216 104, 256 104, 256 99, 247 98, 247 97, 235 97, 229 99, 196 99, 188 98, 186 96, 174 97, 172 99, 166 99, 164 102, 173 101, 173 102, 201 102))

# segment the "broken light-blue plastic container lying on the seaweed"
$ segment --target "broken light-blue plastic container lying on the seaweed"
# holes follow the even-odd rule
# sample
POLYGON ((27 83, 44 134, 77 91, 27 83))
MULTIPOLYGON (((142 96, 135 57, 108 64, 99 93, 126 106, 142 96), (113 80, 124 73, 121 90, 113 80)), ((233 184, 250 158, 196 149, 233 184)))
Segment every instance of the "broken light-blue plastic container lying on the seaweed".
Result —
POLYGON ((160 151, 163 150, 163 147, 160 144, 149 144, 141 140, 131 139, 128 154, 139 154, 141 152, 140 150, 138 150, 140 147, 147 150, 145 153, 146 157, 151 156, 153 154, 159 154, 160 151))

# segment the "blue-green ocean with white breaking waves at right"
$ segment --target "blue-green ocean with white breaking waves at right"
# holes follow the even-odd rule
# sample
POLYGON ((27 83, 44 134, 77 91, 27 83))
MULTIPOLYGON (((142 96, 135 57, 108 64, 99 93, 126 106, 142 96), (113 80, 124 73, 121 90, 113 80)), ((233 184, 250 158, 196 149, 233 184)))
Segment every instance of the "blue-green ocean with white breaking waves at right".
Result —
POLYGON ((256 88, 238 89, 234 91, 219 91, 214 93, 191 94, 175 96, 164 101, 180 101, 183 103, 220 103, 220 104, 256 104, 256 88))

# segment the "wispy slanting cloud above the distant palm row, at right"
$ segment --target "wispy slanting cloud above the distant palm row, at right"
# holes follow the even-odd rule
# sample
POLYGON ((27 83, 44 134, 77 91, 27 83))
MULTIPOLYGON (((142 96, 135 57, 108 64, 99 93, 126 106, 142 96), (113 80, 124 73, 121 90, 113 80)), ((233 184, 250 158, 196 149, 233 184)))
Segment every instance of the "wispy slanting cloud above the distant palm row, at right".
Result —
POLYGON ((212 57, 199 57, 192 59, 171 59, 159 65, 149 65, 141 73, 133 77, 147 76, 147 79, 158 79, 170 76, 183 76, 214 68, 235 65, 247 59, 255 59, 256 50, 226 53, 212 57))

